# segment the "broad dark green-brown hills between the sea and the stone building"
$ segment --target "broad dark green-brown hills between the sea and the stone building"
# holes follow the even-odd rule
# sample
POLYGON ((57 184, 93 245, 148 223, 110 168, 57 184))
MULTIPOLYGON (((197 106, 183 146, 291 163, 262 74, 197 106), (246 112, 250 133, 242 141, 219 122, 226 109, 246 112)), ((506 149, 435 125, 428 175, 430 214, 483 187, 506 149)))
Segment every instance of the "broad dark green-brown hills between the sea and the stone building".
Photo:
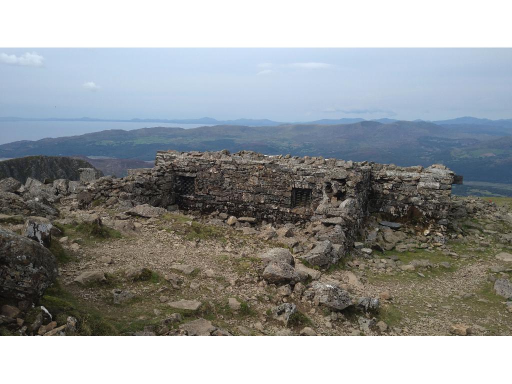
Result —
POLYGON ((231 152, 252 150, 265 154, 290 153, 397 165, 443 163, 464 175, 465 180, 512 183, 511 120, 460 118, 445 120, 442 124, 421 120, 362 120, 348 124, 319 121, 323 124, 220 124, 194 129, 107 130, 3 144, 0 145, 0 158, 39 154, 113 157, 116 162, 111 165, 114 160, 88 160, 105 173, 115 172, 120 176, 125 173, 125 167, 141 167, 148 164, 144 161, 154 160, 158 150, 217 151, 226 148, 231 152))

